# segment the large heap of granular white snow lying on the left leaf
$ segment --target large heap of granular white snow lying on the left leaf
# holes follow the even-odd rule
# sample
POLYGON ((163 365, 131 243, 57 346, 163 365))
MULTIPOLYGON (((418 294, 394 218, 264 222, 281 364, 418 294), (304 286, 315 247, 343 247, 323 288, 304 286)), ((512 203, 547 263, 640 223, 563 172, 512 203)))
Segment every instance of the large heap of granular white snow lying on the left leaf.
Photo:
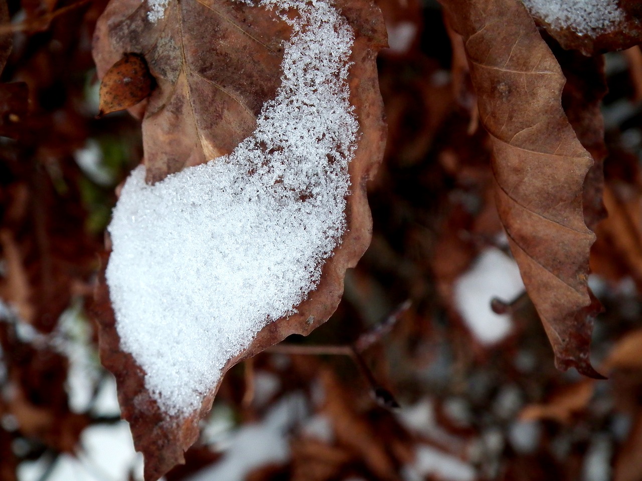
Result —
POLYGON ((345 230, 358 123, 352 30, 329 3, 264 0, 289 22, 282 85, 229 156, 147 185, 125 183, 107 283, 121 348, 168 414, 200 407, 230 357, 295 312, 345 230), (286 12, 295 8, 297 19, 286 12))

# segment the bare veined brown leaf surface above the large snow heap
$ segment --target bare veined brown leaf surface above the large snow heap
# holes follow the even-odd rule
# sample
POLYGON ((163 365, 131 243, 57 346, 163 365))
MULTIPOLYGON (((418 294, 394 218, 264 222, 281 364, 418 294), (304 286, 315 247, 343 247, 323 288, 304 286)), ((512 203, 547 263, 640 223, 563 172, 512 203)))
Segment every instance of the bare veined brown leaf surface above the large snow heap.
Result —
POLYGON ((147 10, 138 0, 108 4, 96 24, 94 59, 103 78, 123 53, 138 53, 157 81, 143 119, 153 182, 230 153, 254 131, 279 86, 290 28, 241 2, 170 1, 157 22, 147 10))

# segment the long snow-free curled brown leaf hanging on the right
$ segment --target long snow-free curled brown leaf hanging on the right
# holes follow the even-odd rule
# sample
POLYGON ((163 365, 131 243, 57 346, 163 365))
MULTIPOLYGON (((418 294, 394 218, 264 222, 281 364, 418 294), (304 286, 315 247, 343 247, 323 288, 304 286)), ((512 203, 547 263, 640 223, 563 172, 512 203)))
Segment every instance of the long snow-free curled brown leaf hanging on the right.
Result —
POLYGON ((499 216, 560 369, 589 360, 599 303, 587 286, 594 241, 582 213, 593 159, 564 110, 564 76, 520 1, 442 0, 465 39, 489 132, 499 216))

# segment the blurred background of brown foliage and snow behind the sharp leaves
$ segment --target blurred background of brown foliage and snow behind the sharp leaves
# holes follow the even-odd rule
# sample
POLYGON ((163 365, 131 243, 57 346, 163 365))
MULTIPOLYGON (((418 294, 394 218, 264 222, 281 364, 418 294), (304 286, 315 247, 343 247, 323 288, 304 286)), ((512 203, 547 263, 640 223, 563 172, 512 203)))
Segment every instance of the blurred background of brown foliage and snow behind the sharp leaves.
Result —
MULTIPOLYGON (((143 155, 138 121, 95 118, 105 4, 12 0, 1 26, 13 49, 0 107, 6 83, 28 86, 26 113, 0 137, 3 481, 141 476, 91 319, 116 187, 143 155)), ((379 4, 389 133, 369 187, 372 245, 324 326, 228 373, 202 439, 166 478, 642 480, 639 47, 606 56, 610 216, 590 283, 605 306, 593 363, 609 380, 593 381, 553 366, 438 4, 379 4), (360 356, 345 355, 354 345, 360 356)))

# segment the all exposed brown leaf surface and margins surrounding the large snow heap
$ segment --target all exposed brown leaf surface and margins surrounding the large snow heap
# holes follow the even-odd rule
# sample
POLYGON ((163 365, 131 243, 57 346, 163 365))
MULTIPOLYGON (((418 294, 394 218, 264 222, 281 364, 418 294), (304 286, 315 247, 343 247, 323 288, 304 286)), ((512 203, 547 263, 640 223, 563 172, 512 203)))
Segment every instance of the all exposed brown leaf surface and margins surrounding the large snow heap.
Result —
MULTIPOLYGON (((383 156, 385 142, 375 63, 377 50, 385 46, 385 29, 381 13, 367 0, 342 1, 336 7, 354 31, 348 81, 360 124, 349 165, 347 229, 333 257, 322 266, 317 289, 296 307, 298 312, 266 325, 223 372, 291 333, 307 335, 324 323, 342 296, 345 270, 356 264, 370 242, 365 183, 383 156)), ((170 1, 164 19, 154 24, 148 20, 146 3, 112 0, 98 21, 94 58, 102 76, 124 52, 139 53, 157 80, 143 118, 148 181, 229 153, 252 133, 261 106, 279 87, 281 42, 289 35, 290 28, 272 13, 244 3, 170 1)), ((123 418, 130 422, 135 448, 144 453, 145 478, 159 478, 184 462, 183 453, 196 441, 198 422, 211 408, 218 385, 212 386, 202 408, 180 424, 168 419, 146 391, 143 370, 119 349, 104 278, 94 315, 100 323, 101 361, 116 376, 123 418)))

